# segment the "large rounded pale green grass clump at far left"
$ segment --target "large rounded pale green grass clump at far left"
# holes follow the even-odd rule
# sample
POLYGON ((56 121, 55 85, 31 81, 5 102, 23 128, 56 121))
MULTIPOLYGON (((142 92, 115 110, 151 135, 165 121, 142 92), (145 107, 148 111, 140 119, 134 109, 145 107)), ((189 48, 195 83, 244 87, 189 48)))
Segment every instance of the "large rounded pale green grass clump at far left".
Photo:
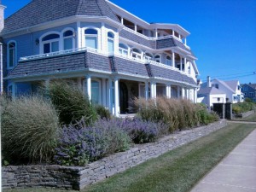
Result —
POLYGON ((3 155, 10 160, 48 161, 56 146, 58 114, 40 96, 8 102, 3 112, 3 155))

